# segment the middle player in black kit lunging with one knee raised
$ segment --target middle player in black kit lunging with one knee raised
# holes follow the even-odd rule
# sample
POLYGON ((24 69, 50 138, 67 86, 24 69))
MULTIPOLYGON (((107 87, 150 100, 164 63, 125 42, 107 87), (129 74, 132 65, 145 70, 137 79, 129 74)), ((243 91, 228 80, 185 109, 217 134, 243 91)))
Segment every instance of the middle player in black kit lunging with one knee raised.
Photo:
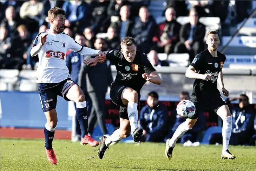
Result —
MULTIPOLYGON (((138 101, 140 90, 146 81, 153 84, 161 84, 157 71, 150 64, 147 55, 137 51, 136 42, 132 37, 125 37, 121 42, 121 49, 104 52, 106 58, 116 65, 117 76, 110 87, 110 98, 114 104, 119 105, 120 128, 109 137, 100 137, 99 158, 103 158, 104 152, 112 142, 126 138, 132 132, 134 142, 138 142, 143 133, 137 127, 138 101)), ((101 57, 84 61, 85 64, 94 66, 105 59, 101 57)))

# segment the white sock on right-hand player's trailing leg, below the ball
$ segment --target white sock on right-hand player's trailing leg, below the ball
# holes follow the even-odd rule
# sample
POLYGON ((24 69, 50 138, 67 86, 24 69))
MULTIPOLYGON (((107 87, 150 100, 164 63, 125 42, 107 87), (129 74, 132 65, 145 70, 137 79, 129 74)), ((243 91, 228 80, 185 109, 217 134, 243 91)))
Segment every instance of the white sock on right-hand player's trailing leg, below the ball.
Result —
POLYGON ((168 144, 170 147, 174 147, 177 140, 182 137, 186 133, 186 131, 190 130, 192 128, 188 127, 188 124, 186 122, 183 122, 178 126, 175 133, 173 134, 172 138, 168 141, 168 144))

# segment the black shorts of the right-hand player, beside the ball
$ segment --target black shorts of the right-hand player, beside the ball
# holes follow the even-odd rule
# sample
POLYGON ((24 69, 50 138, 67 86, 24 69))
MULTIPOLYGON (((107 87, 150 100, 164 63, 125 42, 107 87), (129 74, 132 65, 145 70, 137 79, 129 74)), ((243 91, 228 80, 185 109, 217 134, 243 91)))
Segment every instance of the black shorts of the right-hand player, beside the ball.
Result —
POLYGON ((197 98, 191 96, 190 101, 195 104, 196 112, 195 115, 189 119, 197 119, 199 113, 204 110, 205 107, 208 107, 211 111, 217 112, 219 107, 227 105, 227 102, 221 97, 221 95, 214 95, 210 98, 197 98))

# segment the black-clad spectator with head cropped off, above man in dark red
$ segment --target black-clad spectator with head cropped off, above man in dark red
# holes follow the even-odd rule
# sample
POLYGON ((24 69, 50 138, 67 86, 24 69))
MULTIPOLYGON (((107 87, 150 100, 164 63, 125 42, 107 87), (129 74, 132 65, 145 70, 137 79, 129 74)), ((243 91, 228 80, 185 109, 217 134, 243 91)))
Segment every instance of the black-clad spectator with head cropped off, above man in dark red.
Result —
POLYGON ((174 10, 176 11, 176 17, 188 15, 187 4, 186 4, 186 1, 184 1, 184 0, 182 0, 182 1, 167 1, 165 9, 167 10, 170 7, 174 8, 174 10))

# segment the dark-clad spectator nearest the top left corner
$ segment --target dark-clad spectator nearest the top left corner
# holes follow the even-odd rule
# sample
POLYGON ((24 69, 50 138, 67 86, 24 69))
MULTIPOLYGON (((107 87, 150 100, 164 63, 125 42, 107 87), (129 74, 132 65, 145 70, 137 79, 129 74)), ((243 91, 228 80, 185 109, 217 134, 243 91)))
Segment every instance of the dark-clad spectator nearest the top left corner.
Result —
POLYGON ((21 24, 21 20, 17 17, 13 6, 9 6, 5 10, 5 18, 1 22, 1 26, 8 29, 8 36, 11 38, 19 35, 17 27, 21 24))

